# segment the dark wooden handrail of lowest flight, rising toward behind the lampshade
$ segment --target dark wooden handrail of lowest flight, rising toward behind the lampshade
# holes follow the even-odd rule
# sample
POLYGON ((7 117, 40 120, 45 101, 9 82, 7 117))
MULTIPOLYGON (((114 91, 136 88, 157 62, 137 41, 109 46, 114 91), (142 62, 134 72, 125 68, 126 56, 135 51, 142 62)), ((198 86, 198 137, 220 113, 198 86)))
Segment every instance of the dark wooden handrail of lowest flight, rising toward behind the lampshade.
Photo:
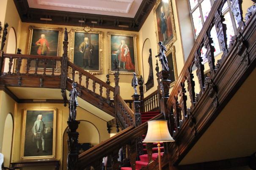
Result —
MULTIPOLYGON (((151 120, 159 119, 164 119, 163 114, 159 114, 151 120)), ((146 134, 147 127, 147 122, 141 124, 137 128, 135 128, 135 126, 133 125, 121 131, 112 138, 102 142, 101 144, 90 148, 89 150, 79 155, 77 167, 82 170, 85 167, 92 165, 94 162, 102 162, 102 158, 107 155, 112 155, 116 152, 118 153, 118 150, 124 145, 129 145, 132 139, 138 138, 139 136, 146 134)))

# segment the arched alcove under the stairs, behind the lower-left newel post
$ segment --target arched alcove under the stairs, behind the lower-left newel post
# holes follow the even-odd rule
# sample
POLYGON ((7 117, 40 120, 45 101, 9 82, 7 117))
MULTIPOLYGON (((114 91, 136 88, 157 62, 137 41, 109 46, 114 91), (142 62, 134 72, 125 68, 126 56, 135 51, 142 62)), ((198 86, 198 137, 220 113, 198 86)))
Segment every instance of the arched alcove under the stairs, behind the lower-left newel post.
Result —
MULTIPOLYGON (((96 146, 100 143, 100 135, 99 130, 96 128, 94 124, 90 121, 79 120, 80 124, 78 126, 77 132, 79 132, 78 143, 91 143, 92 146, 96 146)), ((67 155, 68 151, 68 134, 66 130, 63 133, 63 151, 62 151, 62 169, 67 169, 67 155)))

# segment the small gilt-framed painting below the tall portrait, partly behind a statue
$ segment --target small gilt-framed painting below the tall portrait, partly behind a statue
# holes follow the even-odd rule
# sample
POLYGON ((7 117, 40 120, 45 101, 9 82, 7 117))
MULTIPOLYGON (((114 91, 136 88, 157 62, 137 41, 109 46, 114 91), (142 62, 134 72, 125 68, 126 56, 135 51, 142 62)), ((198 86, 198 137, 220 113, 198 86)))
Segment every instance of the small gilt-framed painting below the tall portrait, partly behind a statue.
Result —
POLYGON ((165 55, 166 55, 166 58, 168 61, 168 67, 169 67, 169 71, 171 74, 170 87, 172 87, 176 83, 176 80, 178 80, 178 72, 177 72, 177 64, 176 64, 176 56, 175 56, 175 46, 171 46, 165 55))

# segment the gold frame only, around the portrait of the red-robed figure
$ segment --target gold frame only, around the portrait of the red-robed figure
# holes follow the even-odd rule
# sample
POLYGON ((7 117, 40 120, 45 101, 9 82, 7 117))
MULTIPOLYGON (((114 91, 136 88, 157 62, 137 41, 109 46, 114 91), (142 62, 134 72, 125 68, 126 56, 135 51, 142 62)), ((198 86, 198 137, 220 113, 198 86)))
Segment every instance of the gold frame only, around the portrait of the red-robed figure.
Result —
MULTIPOLYGON (((137 61, 137 34, 125 34, 125 33, 120 33, 120 32, 107 32, 107 37, 108 37, 108 73, 109 74, 114 74, 115 71, 111 71, 111 35, 121 35, 121 36, 128 36, 128 37, 133 37, 133 48, 134 48, 134 62, 135 62, 135 73, 138 76, 139 71, 138 71, 138 61, 137 61)), ((126 71, 119 71, 120 74, 133 74, 134 72, 126 72, 126 71)))

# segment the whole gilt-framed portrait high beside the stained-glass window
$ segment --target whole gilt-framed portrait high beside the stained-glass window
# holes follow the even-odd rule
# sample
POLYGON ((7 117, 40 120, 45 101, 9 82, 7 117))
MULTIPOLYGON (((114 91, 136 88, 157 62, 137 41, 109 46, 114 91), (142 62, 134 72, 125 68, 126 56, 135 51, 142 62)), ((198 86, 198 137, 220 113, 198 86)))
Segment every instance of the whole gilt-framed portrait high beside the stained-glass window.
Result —
POLYGON ((157 45, 162 41, 163 45, 170 49, 177 40, 171 0, 157 0, 153 11, 157 45))

